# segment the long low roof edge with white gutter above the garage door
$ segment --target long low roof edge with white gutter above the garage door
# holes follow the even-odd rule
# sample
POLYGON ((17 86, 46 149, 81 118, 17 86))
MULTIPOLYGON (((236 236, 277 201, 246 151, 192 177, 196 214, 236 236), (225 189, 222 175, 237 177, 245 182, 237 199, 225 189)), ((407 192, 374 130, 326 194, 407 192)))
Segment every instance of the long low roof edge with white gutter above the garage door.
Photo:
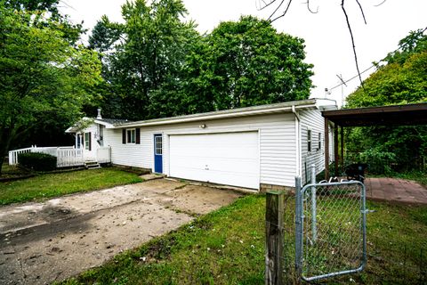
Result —
POLYGON ((282 102, 269 105, 253 106, 246 108, 236 108, 230 110, 218 110, 207 113, 199 113, 172 118, 156 118, 149 120, 141 120, 134 122, 124 122, 114 124, 114 128, 125 128, 134 126, 156 126, 168 125, 185 122, 194 122, 201 120, 211 120, 219 118, 238 118, 255 115, 273 114, 281 112, 291 112, 294 110, 309 110, 309 109, 331 110, 336 109, 336 102, 328 99, 308 99, 302 101, 282 102))

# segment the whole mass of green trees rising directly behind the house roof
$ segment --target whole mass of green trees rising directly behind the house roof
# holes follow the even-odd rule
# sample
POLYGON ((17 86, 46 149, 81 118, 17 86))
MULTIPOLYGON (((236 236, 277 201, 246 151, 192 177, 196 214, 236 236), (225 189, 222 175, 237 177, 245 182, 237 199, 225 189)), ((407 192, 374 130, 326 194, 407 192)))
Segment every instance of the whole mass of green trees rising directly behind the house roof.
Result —
POLYGON ((310 94, 303 40, 266 20, 242 17, 200 36, 193 22, 182 22, 181 1, 135 1, 122 9, 125 24, 103 17, 90 39, 102 56, 109 117, 162 118, 310 94))

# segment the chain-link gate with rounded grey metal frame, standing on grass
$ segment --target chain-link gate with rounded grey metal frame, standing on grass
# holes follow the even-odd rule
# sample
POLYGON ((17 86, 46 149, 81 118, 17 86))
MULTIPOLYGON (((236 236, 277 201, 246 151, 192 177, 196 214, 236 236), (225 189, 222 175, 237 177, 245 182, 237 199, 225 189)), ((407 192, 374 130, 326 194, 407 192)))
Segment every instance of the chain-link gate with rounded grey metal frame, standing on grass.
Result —
POLYGON ((318 281, 363 270, 367 262, 363 183, 297 187, 295 205, 295 268, 302 280, 318 281))

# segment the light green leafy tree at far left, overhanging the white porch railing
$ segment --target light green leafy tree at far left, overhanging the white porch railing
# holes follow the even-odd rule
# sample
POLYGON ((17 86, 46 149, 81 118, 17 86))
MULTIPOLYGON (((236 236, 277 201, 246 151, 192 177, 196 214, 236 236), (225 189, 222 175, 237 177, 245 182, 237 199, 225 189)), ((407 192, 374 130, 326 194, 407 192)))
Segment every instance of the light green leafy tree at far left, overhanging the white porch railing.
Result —
MULTIPOLYGON (((0 3, 0 155, 56 116, 72 122, 101 80, 96 53, 70 43, 61 21, 0 3), (38 16, 35 16, 38 15, 38 16)), ((1 173, 1 164, 0 164, 1 173)))

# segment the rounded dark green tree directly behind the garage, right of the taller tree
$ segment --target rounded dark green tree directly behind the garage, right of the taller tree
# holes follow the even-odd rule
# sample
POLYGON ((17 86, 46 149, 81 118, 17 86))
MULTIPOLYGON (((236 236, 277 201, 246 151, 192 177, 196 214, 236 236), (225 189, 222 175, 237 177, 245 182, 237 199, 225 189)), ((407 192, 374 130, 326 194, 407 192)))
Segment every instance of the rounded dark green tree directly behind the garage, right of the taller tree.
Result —
POLYGON ((214 110, 307 99, 312 65, 303 40, 278 33, 269 21, 252 16, 222 22, 192 53, 187 94, 214 110))

